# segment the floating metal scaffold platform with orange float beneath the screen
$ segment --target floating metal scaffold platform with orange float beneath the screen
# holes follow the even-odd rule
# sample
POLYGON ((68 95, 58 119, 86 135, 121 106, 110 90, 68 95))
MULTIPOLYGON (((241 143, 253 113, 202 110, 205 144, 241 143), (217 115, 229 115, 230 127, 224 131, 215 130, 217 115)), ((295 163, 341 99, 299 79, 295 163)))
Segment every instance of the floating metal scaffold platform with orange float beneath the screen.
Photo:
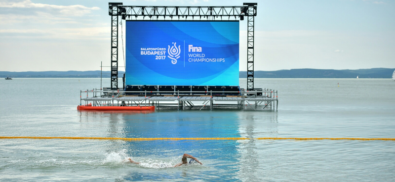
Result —
MULTIPOLYGON (((230 91, 232 94, 235 91, 230 91)), ((226 91, 119 91, 119 90, 87 90, 80 91, 78 110, 119 111, 130 108, 177 110, 184 109, 249 109, 277 110, 277 91, 261 89, 259 91, 239 91, 238 95, 227 95, 226 91), (82 98, 82 94, 86 97, 82 98), (144 93, 144 94, 141 94, 144 93), (85 105, 82 104, 82 101, 85 105), (86 106, 91 104, 91 106, 86 106), (155 107, 154 107, 155 106, 155 107)))

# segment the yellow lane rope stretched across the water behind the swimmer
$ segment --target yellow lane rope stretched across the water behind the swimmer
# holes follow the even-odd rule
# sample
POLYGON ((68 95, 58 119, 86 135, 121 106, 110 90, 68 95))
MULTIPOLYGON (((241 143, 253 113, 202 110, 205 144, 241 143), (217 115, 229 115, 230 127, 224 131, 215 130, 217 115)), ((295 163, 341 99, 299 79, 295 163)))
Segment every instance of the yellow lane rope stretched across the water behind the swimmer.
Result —
POLYGON ((115 137, 34 137, 34 136, 0 136, 0 139, 69 139, 69 140, 125 140, 125 141, 152 141, 152 140, 384 140, 395 141, 395 138, 297 138, 297 137, 222 137, 222 138, 115 138, 115 137))

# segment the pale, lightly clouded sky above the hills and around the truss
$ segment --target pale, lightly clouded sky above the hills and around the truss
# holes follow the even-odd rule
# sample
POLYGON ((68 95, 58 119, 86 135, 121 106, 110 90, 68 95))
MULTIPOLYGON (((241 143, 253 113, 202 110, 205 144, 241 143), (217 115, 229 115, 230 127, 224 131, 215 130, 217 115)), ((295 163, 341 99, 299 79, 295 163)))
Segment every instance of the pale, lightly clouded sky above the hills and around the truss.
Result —
MULTIPOLYGON (((119 1, 240 6, 244 0, 119 1)), ((100 61, 109 66, 108 2, 0 0, 0 71, 100 70, 100 61)), ((255 2, 255 70, 395 68, 394 0, 255 2)), ((247 64, 246 23, 240 21, 240 71, 247 64)), ((121 50, 119 66, 123 66, 121 50)))

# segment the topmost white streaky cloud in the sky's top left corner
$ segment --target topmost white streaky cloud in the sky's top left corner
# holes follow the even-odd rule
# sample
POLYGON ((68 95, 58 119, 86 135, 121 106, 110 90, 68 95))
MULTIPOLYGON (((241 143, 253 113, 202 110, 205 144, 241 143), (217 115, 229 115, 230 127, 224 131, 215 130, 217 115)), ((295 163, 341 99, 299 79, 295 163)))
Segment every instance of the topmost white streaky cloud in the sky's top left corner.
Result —
POLYGON ((102 22, 92 21, 98 7, 83 5, 53 5, 31 0, 0 0, 0 29, 51 29, 99 27, 102 22))

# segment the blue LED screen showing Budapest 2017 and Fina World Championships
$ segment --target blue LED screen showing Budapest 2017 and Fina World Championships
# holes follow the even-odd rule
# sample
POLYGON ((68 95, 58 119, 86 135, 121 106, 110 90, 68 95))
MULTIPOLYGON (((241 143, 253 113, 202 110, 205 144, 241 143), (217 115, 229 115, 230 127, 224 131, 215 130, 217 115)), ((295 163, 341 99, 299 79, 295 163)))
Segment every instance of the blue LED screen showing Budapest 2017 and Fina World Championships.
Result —
POLYGON ((126 21, 126 85, 238 86, 238 21, 126 21))

